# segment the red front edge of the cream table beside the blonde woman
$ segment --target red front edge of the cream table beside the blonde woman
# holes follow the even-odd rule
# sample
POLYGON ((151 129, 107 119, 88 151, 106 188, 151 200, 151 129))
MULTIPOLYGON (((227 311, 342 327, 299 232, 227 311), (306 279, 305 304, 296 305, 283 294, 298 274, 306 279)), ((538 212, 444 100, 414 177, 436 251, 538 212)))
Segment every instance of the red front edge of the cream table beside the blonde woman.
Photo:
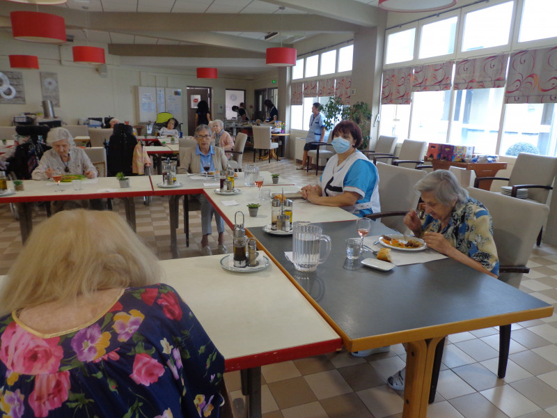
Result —
POLYGON ((283 348, 281 350, 267 351, 246 355, 242 357, 234 357, 224 360, 224 371, 235 371, 242 369, 251 369, 252 367, 265 366, 266 364, 274 364, 286 362, 288 360, 311 357, 314 355, 332 353, 340 350, 343 341, 340 336, 337 339, 321 341, 319 343, 306 344, 304 346, 283 348))

